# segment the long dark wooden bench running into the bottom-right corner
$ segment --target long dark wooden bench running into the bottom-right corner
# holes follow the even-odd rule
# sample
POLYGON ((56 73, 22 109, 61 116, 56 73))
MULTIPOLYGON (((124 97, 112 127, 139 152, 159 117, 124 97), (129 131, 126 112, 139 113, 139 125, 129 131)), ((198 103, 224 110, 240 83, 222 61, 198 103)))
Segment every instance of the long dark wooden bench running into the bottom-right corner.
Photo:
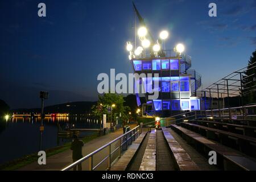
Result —
POLYGON ((225 170, 256 170, 256 161, 240 151, 233 150, 222 144, 209 140, 200 134, 181 126, 171 125, 176 133, 180 134, 189 144, 192 144, 196 150, 200 151, 209 158, 209 151, 216 151, 217 165, 225 170))

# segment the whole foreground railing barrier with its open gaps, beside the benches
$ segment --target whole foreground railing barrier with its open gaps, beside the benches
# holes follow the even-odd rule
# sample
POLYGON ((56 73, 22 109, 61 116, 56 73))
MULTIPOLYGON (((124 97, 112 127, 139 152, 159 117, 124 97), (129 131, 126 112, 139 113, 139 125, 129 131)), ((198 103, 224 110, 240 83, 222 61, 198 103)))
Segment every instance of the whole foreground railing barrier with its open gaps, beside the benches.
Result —
POLYGON ((137 126, 133 130, 121 135, 112 140, 104 146, 98 148, 96 151, 77 160, 75 163, 65 167, 61 171, 68 171, 70 169, 80 166, 82 170, 93 171, 110 169, 112 163, 122 156, 122 152, 127 150, 127 147, 139 137, 142 133, 141 127, 137 126))

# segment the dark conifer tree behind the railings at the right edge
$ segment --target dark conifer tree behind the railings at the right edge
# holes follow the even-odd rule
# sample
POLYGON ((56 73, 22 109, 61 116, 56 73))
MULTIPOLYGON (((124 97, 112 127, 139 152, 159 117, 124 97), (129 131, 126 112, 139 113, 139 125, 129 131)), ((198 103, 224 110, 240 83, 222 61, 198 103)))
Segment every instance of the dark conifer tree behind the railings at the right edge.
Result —
POLYGON ((245 75, 243 75, 243 100, 244 104, 256 103, 256 50, 250 56, 245 75))

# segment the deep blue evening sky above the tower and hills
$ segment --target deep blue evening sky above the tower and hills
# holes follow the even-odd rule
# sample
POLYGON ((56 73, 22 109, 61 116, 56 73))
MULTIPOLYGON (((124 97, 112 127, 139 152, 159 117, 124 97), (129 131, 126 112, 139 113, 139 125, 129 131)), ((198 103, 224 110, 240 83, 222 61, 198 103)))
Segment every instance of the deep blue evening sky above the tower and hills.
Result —
MULTIPOLYGON (((135 0, 157 38, 185 45, 192 68, 210 85, 247 65, 256 48, 255 0, 135 0), (217 17, 208 16, 210 2, 217 17)), ((126 41, 134 39, 131 1, 0 1, 0 99, 11 108, 97 100, 97 75, 132 73, 126 41), (38 3, 47 6, 39 18, 38 3)))

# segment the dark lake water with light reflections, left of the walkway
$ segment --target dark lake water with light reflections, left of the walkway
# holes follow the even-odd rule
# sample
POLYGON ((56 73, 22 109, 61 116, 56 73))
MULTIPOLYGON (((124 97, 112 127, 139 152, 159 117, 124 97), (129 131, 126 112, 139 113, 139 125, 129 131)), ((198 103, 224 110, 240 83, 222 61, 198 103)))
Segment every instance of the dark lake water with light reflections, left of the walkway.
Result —
MULTIPOLYGON (((58 137, 58 131, 71 127, 99 128, 100 121, 82 117, 46 117, 43 133, 43 150, 70 142, 71 135, 58 137), (58 127, 59 126, 59 127, 58 127)), ((38 152, 40 145, 40 118, 0 118, 0 164, 38 152)), ((79 133, 79 137, 92 135, 92 131, 79 133)))

